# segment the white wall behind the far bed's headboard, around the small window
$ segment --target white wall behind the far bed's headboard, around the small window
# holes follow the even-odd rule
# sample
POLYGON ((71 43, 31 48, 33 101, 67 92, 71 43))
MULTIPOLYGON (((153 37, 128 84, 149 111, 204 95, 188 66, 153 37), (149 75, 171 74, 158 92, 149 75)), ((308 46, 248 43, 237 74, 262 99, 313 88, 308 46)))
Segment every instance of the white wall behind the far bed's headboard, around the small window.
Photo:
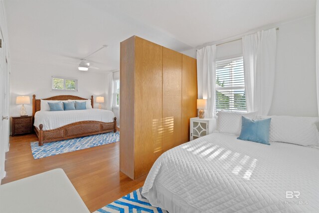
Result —
MULTIPOLYGON (((20 105, 15 104, 16 96, 28 95, 31 104, 25 105, 27 114, 32 114, 32 95, 37 99, 48 98, 55 95, 75 95, 90 98, 91 95, 105 96, 105 74, 79 71, 76 67, 63 65, 43 65, 11 63, 11 101, 10 115, 19 115, 20 105), (78 92, 51 91, 51 76, 72 77, 78 79, 78 92)), ((104 104, 102 104, 104 107, 104 104)), ((98 104, 94 103, 94 108, 98 104)))

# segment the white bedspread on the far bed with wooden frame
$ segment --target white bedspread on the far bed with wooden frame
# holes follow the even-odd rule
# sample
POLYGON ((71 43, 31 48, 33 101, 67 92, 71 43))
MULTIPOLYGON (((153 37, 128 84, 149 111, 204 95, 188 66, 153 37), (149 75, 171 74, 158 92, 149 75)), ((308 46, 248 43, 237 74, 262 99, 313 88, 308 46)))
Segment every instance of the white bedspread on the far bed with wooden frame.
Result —
POLYGON ((43 130, 62 127, 78 121, 113 122, 114 113, 103 109, 68 110, 68 111, 38 111, 34 116, 34 126, 43 130))

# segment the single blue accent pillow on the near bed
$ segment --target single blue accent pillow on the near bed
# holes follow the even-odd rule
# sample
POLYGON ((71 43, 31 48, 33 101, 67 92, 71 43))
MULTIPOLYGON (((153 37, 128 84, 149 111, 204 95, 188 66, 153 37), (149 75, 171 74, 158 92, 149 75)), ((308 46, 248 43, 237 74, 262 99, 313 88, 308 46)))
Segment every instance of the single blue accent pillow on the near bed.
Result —
POLYGON ((271 118, 252 120, 241 116, 241 120, 241 133, 237 139, 270 145, 269 129, 271 118))

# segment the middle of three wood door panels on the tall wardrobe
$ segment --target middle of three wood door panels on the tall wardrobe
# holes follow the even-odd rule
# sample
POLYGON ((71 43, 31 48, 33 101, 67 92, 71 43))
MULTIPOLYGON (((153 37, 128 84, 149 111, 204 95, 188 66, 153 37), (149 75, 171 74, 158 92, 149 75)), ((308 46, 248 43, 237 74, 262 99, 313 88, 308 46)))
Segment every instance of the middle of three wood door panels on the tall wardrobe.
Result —
POLYGON ((182 54, 163 47, 163 152, 181 144, 182 54))

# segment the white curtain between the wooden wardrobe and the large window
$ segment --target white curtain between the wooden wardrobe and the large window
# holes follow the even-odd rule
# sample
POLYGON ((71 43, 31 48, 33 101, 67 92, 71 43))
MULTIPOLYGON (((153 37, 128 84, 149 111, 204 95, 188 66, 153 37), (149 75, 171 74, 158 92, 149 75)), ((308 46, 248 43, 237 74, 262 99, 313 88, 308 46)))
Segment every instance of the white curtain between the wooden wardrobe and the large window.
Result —
POLYGON ((206 118, 213 118, 215 111, 216 45, 197 50, 198 99, 207 99, 206 118))

